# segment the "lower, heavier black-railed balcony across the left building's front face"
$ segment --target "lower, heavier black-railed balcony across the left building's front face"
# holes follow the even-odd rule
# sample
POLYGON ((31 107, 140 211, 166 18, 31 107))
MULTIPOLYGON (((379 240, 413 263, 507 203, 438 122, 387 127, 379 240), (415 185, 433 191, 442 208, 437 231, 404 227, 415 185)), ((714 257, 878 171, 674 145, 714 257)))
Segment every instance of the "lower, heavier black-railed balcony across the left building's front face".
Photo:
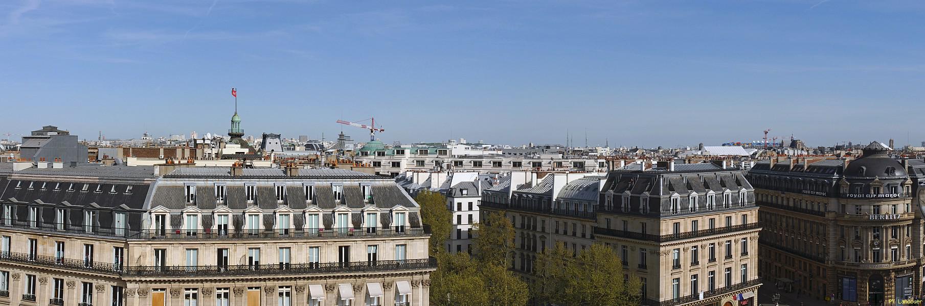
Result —
POLYGON ((124 277, 222 277, 304 275, 328 273, 369 273, 437 268, 437 259, 407 259, 354 263, 315 263, 279 265, 196 265, 127 266, 124 277))

